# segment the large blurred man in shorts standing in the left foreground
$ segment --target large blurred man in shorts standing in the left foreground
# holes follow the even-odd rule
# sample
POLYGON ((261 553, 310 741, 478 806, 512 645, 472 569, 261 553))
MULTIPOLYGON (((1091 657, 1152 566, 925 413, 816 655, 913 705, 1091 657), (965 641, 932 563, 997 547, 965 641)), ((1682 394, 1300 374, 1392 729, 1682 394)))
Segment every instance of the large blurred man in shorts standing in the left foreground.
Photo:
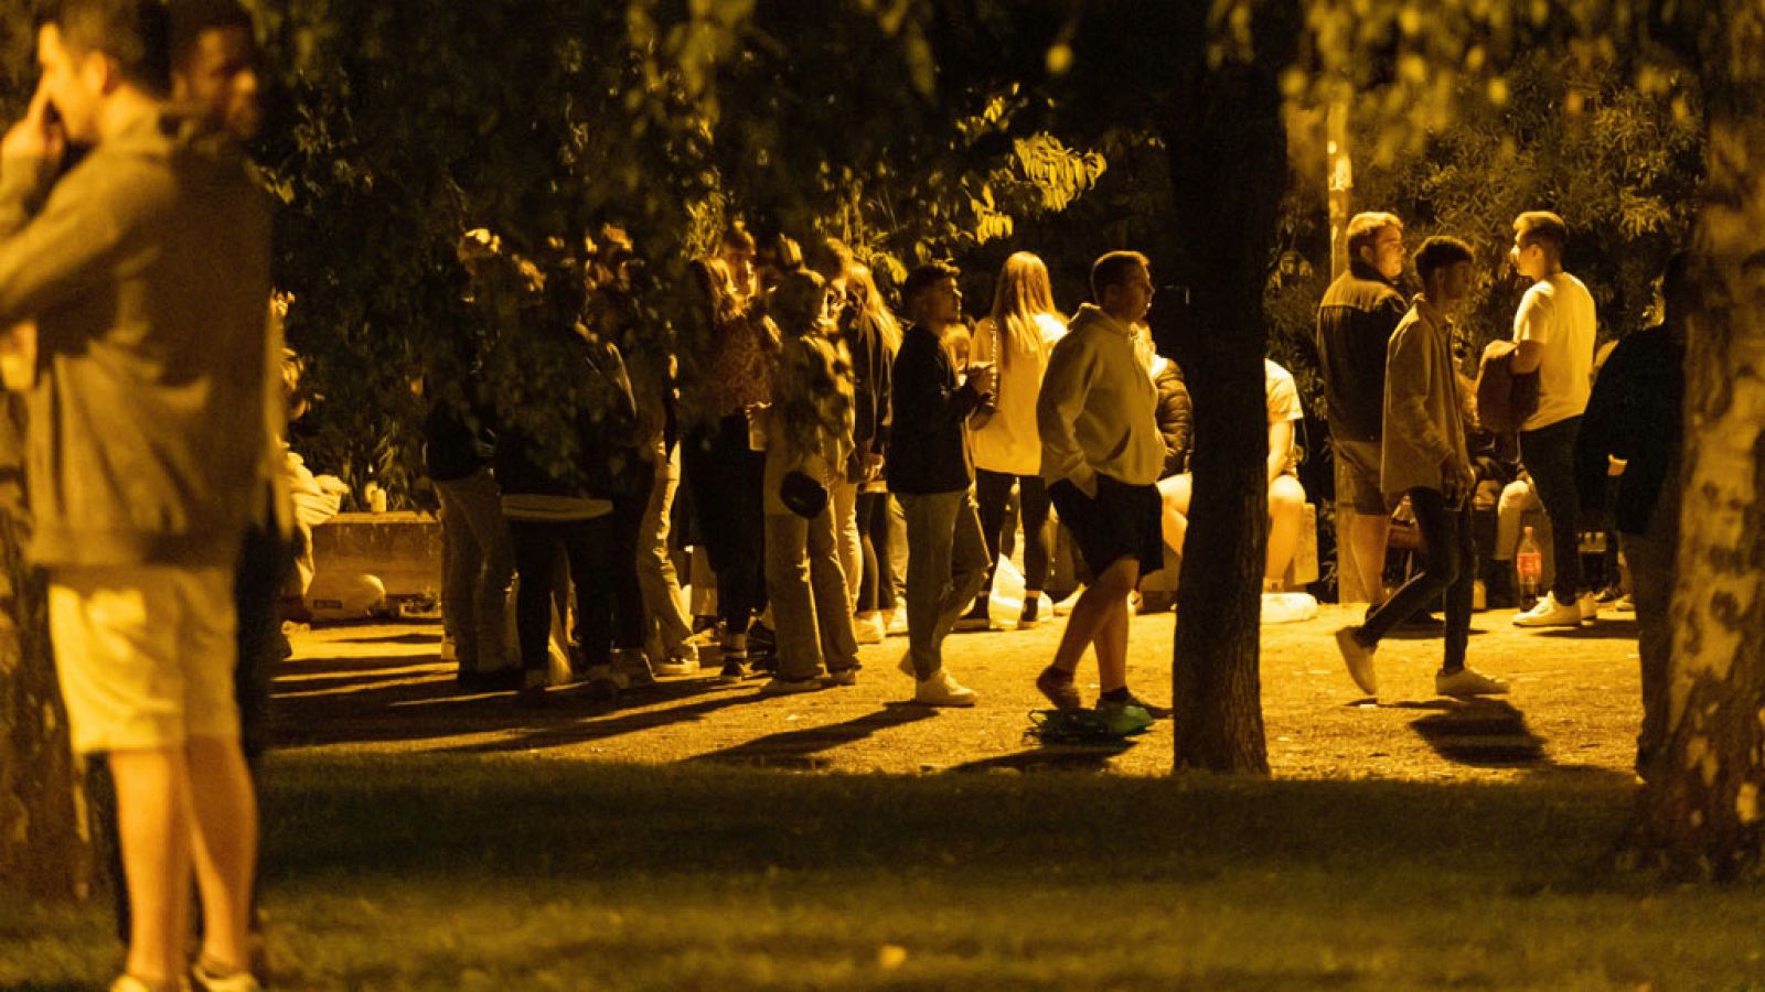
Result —
POLYGON ((247 971, 256 805, 233 699, 233 572, 258 508, 270 214, 231 136, 166 111, 168 12, 65 0, 0 143, 0 327, 37 321, 28 554, 74 747, 109 752, 134 906, 115 988, 247 971), (51 113, 53 108, 53 113, 51 113), (56 180, 67 143, 92 152, 56 180))

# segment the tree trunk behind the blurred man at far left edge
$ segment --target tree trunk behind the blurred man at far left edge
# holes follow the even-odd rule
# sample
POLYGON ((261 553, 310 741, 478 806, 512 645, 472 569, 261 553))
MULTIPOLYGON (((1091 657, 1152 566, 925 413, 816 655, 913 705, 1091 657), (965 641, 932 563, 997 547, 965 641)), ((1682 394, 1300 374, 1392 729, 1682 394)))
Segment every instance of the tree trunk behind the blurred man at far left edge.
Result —
POLYGON ((42 575, 25 561, 25 404, 0 394, 0 888, 85 898, 92 845, 49 655, 42 575))

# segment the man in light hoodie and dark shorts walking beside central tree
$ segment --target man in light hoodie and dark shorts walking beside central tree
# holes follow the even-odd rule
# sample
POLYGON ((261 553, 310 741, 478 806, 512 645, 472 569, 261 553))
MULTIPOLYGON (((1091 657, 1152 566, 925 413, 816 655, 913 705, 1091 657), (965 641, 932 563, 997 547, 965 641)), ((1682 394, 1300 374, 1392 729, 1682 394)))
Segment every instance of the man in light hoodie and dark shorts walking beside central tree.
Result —
POLYGON ((1066 620, 1054 664, 1036 688, 1055 708, 1077 710, 1073 671, 1096 646, 1098 711, 1123 731, 1151 725, 1151 708, 1128 692, 1128 593, 1165 563, 1158 475, 1158 390, 1133 348, 1133 323, 1153 305, 1153 275, 1140 252, 1114 251, 1091 267, 1091 295, 1048 358, 1036 401, 1041 477, 1061 522, 1096 581, 1066 620))

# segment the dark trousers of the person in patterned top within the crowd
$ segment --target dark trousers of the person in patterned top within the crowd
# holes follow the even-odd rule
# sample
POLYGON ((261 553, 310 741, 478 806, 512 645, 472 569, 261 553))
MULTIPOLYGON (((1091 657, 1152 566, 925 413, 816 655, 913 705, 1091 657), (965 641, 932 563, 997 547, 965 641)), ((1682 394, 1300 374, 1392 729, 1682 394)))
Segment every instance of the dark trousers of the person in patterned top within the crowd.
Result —
POLYGON ((766 605, 766 454, 748 450, 748 418, 736 413, 687 431, 681 459, 695 533, 717 572, 717 609, 731 634, 745 634, 766 605))

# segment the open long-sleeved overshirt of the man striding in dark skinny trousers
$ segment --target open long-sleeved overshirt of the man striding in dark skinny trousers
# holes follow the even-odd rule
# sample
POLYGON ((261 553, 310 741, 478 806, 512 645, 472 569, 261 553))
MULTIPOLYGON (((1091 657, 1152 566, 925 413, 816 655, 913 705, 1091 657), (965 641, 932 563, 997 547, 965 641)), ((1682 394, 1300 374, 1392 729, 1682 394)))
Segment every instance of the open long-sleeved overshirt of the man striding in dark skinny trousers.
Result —
POLYGON ((1410 489, 1444 489, 1451 468, 1470 466, 1463 410, 1451 327, 1417 295, 1386 346, 1378 489, 1387 503, 1396 505, 1410 489))

